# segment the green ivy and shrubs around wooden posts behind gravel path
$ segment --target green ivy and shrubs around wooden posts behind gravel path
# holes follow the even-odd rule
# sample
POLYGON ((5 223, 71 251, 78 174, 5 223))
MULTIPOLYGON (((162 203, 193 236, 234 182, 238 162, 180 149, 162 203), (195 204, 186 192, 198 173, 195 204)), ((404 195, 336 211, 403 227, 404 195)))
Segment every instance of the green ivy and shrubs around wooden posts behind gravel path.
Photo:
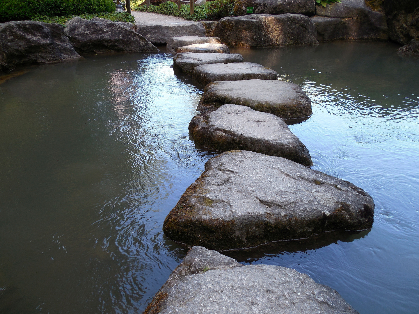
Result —
POLYGON ((194 15, 190 14, 190 5, 181 5, 181 9, 178 10, 178 5, 171 1, 162 3, 160 5, 150 5, 148 8, 146 5, 140 5, 134 7, 133 10, 152 12, 165 15, 178 16, 185 18, 186 20, 200 21, 204 19, 208 20, 219 20, 226 16, 233 15, 234 0, 216 0, 205 3, 205 5, 196 6, 194 9, 194 15))

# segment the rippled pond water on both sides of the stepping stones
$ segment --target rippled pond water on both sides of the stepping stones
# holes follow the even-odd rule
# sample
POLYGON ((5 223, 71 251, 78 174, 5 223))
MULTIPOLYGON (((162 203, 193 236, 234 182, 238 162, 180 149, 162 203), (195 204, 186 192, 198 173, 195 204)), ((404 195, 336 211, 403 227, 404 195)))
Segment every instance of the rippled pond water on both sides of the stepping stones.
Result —
MULTIPOLYGON (((314 113, 290 128, 313 168, 376 208, 371 230, 224 253, 308 273, 361 314, 419 311, 419 61, 397 47, 234 51, 303 87, 314 113)), ((163 220, 216 152, 189 139, 202 90, 171 64, 91 55, 0 85, 0 313, 140 313, 181 262, 163 220)))

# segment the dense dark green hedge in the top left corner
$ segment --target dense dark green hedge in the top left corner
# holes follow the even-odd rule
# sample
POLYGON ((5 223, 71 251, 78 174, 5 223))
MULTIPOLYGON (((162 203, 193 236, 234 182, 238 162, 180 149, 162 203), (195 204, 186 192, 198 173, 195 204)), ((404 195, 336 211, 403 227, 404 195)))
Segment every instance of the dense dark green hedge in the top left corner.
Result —
POLYGON ((1 0, 0 22, 31 20, 38 16, 111 13, 112 0, 1 0))

